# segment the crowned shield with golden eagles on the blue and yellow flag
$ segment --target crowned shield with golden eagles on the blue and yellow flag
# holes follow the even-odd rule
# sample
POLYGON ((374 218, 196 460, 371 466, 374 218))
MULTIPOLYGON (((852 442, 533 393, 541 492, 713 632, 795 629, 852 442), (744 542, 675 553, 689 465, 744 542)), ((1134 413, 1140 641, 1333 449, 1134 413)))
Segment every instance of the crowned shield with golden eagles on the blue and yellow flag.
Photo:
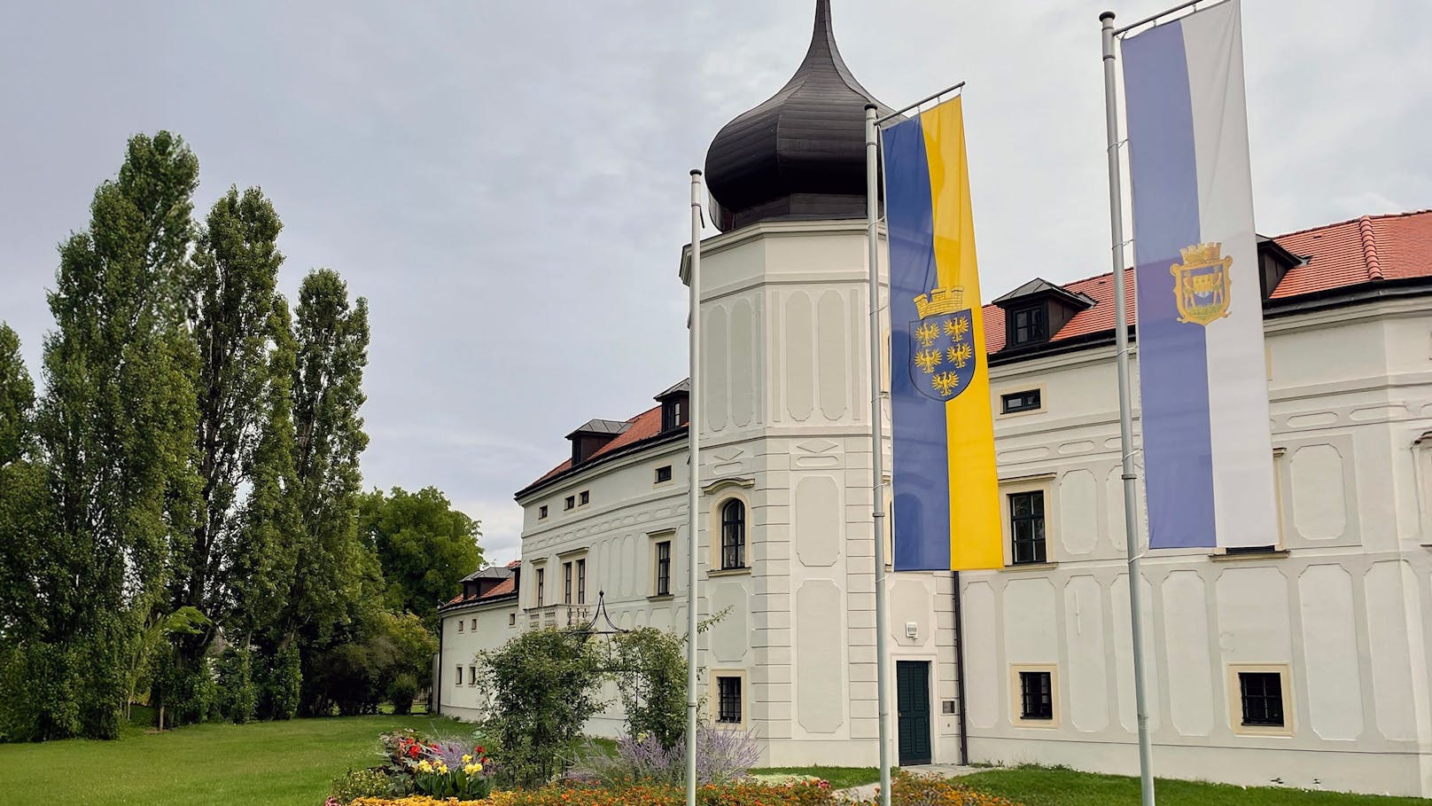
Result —
POLYGON ((974 320, 965 290, 934 288, 915 297, 909 323, 909 380, 927 397, 954 400, 975 374, 974 320))

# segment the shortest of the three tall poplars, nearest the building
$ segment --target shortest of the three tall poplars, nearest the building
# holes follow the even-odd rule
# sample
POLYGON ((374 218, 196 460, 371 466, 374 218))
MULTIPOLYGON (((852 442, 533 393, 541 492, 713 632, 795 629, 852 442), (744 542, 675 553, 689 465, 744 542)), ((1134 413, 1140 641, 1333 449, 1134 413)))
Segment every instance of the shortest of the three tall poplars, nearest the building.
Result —
POLYGON ((304 278, 294 321, 294 479, 302 536, 284 608, 288 640, 298 640, 305 710, 322 703, 309 687, 314 658, 381 608, 377 556, 358 536, 358 457, 368 445, 365 400, 368 301, 348 300, 338 272, 304 278))

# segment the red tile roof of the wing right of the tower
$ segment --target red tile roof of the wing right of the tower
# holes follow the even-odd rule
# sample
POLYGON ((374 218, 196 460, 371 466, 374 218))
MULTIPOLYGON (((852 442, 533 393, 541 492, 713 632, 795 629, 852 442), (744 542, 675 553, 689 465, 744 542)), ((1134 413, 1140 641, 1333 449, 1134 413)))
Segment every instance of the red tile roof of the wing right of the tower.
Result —
MULTIPOLYGON (((1350 288, 1383 280, 1432 277, 1432 209, 1392 215, 1365 215, 1273 238, 1277 245, 1307 258, 1289 270, 1273 290, 1274 300, 1350 288)), ((1080 311, 1050 341, 1067 341, 1114 328, 1113 272, 1078 280, 1065 291, 1088 294, 1094 307, 1080 311)), ((1124 271, 1128 318, 1134 321, 1134 271, 1124 271)), ((984 307, 985 350, 1004 349, 1004 310, 984 307)))

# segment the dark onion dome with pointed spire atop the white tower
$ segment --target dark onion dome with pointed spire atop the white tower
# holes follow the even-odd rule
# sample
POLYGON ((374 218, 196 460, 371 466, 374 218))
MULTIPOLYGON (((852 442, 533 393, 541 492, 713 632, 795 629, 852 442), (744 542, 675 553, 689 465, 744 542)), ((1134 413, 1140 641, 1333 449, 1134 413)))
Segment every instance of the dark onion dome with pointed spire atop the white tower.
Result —
POLYGON ((722 229, 769 219, 865 217, 865 106, 891 112, 851 75, 815 6, 805 60, 786 86, 726 123, 706 152, 706 186, 722 229))

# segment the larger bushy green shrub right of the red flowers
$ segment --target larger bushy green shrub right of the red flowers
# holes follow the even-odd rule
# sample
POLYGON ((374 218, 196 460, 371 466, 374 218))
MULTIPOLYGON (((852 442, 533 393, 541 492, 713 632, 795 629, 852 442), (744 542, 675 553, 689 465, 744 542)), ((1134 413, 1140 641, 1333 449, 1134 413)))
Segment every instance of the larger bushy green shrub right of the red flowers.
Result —
POLYGON ((491 697, 483 730, 501 749, 501 774, 521 786, 551 780, 603 707, 603 664, 591 643, 583 632, 531 630, 478 660, 491 697))

